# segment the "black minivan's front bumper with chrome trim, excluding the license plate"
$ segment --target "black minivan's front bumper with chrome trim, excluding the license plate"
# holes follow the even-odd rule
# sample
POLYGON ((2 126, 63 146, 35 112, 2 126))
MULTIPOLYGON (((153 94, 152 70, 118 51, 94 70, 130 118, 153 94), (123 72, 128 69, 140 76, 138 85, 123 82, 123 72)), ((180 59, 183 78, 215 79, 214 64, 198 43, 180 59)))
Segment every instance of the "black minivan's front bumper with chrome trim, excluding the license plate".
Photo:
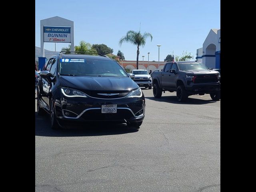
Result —
POLYGON ((145 99, 120 98, 120 99, 97 99, 97 98, 67 98, 62 96, 55 101, 56 117, 59 120, 77 122, 86 121, 110 121, 110 122, 141 122, 145 117, 145 99), (117 105, 116 113, 102 113, 102 105, 117 105), (68 115, 66 115, 68 112, 68 115))

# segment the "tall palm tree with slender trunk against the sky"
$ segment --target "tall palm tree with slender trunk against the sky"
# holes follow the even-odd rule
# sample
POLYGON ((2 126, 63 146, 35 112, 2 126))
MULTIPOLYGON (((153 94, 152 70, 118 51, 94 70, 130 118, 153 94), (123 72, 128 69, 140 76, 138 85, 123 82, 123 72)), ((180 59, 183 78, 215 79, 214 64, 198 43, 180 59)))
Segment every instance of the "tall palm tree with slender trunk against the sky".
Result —
POLYGON ((137 69, 139 68, 139 54, 140 54, 140 46, 144 47, 146 44, 146 38, 150 37, 151 41, 153 39, 152 34, 144 32, 141 34, 140 31, 136 32, 130 30, 119 40, 119 46, 121 46, 124 42, 131 43, 137 46, 137 69))

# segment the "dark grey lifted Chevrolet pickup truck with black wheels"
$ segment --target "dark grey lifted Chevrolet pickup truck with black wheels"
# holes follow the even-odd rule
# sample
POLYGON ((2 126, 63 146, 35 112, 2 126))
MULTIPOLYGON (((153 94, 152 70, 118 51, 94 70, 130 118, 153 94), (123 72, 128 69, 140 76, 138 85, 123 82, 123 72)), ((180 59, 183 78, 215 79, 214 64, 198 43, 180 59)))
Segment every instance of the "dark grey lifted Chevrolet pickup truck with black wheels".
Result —
POLYGON ((162 72, 152 73, 153 94, 160 98, 162 92, 176 91, 179 102, 190 95, 210 94, 212 100, 220 100, 220 73, 194 61, 167 62, 162 72))

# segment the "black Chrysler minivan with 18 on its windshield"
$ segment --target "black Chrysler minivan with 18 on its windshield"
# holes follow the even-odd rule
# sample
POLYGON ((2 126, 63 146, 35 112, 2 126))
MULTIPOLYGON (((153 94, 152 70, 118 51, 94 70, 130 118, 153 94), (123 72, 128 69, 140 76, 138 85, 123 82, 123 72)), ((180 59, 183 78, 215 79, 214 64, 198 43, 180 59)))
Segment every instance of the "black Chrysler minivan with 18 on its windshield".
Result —
POLYGON ((54 54, 40 72, 38 115, 48 112, 53 129, 72 121, 126 123, 138 129, 145 117, 145 98, 126 71, 101 54, 66 53, 54 54))

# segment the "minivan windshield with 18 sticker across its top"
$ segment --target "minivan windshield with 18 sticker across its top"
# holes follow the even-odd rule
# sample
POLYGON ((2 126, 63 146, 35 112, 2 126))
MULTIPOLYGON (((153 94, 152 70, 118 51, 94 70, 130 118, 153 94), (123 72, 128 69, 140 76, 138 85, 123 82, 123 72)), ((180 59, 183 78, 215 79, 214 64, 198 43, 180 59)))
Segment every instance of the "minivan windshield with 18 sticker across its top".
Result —
POLYGON ((122 67, 112 60, 60 59, 60 75, 128 77, 122 67))

